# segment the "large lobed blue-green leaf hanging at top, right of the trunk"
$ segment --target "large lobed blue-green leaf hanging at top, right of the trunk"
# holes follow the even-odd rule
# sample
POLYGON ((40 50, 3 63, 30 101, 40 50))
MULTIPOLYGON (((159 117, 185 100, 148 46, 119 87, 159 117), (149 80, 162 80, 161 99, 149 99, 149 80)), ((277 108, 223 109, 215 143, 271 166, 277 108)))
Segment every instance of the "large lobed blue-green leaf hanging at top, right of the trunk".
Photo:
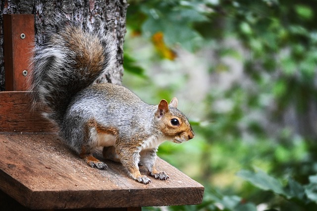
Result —
POLYGON ((206 22, 207 16, 199 10, 199 3, 190 1, 161 3, 157 7, 143 7, 148 18, 142 25, 142 34, 148 38, 158 32, 164 34, 164 42, 172 47, 180 44, 189 51, 194 51, 202 42, 201 35, 194 23, 206 22))

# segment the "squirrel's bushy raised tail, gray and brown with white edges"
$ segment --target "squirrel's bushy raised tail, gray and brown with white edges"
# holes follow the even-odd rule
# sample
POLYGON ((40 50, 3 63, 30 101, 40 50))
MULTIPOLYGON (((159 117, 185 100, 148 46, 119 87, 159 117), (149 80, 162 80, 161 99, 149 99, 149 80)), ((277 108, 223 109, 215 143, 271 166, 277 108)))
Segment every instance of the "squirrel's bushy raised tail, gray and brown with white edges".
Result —
POLYGON ((60 125, 71 98, 93 84, 115 63, 116 43, 90 24, 58 20, 36 46, 30 78, 33 100, 48 108, 46 116, 60 125))

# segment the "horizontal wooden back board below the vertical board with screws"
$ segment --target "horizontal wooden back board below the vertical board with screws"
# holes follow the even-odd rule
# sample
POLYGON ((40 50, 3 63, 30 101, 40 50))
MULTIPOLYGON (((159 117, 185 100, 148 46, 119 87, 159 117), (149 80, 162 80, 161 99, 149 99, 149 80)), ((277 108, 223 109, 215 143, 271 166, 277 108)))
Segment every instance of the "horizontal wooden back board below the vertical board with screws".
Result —
POLYGON ((40 114, 31 111, 29 92, 0 92, 0 132, 56 132, 56 127, 40 114))

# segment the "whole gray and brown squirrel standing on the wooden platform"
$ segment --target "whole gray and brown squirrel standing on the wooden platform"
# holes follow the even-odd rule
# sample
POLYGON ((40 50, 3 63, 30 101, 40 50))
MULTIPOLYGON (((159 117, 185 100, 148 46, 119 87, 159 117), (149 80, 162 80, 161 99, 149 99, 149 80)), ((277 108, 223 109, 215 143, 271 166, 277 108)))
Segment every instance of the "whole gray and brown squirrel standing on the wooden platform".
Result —
POLYGON ((32 59, 33 104, 46 108, 44 116, 58 127, 60 138, 89 166, 107 169, 92 154, 103 147, 103 157, 122 163, 134 180, 151 182, 139 165, 167 180, 155 167, 159 144, 188 141, 193 129, 175 97, 169 104, 162 99, 149 105, 124 86, 94 83, 116 61, 116 42, 104 28, 67 19, 48 27, 32 59))

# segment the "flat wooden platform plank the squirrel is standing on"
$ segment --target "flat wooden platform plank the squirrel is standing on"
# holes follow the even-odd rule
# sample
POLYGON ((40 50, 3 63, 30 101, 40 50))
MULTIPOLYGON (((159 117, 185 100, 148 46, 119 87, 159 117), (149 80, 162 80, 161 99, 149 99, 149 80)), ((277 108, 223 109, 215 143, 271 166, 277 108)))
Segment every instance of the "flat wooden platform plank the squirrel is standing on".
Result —
MULTIPOLYGON (((120 208, 202 202, 204 187, 158 159, 170 179, 144 185, 121 164, 89 167, 55 134, 0 133, 0 189, 31 209, 120 208)), ((102 159, 101 149, 96 157, 102 159)), ((141 172, 146 173, 145 169, 141 172)))

